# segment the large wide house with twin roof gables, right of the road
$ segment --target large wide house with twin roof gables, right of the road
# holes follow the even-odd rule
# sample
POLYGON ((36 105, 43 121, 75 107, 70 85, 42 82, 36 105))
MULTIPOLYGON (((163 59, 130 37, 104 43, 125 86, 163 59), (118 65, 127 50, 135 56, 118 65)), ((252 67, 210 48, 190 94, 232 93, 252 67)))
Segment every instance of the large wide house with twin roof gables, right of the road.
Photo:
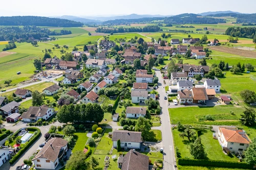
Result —
POLYGON ((183 72, 187 73, 188 77, 194 77, 194 75, 201 75, 202 77, 209 72, 209 66, 207 65, 183 65, 183 72))

